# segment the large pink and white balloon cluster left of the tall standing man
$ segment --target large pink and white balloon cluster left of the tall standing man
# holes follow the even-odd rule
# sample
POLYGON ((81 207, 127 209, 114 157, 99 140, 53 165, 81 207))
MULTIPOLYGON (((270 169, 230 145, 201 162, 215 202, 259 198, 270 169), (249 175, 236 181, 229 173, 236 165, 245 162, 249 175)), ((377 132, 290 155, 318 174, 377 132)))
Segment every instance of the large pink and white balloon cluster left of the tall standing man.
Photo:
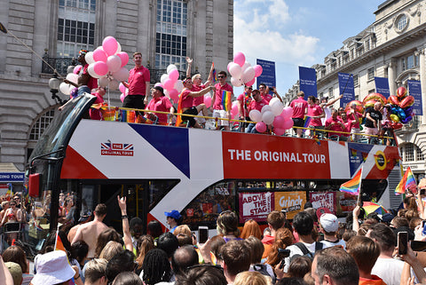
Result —
POLYGON ((95 51, 86 53, 84 59, 89 64, 87 71, 91 77, 99 78, 101 87, 117 90, 121 81, 129 78, 129 70, 125 67, 129 55, 122 51, 122 46, 114 36, 106 36, 95 51))

